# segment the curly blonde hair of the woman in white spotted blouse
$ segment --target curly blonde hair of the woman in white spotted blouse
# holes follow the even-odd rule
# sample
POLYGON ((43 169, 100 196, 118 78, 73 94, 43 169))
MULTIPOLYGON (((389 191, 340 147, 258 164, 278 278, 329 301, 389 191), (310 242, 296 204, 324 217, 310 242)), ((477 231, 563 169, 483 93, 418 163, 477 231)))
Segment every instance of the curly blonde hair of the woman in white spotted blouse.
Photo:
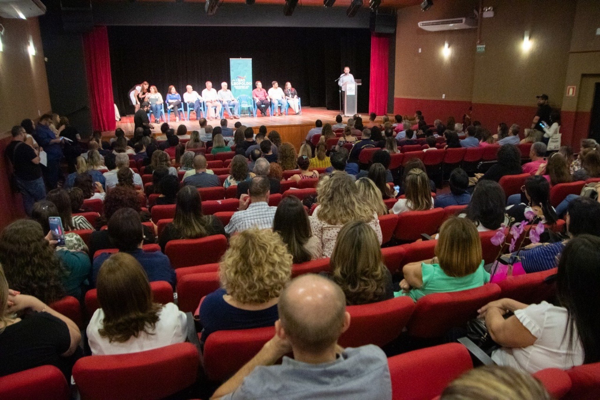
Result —
POLYGON ((358 187, 350 175, 334 172, 317 184, 317 218, 331 225, 350 221, 370 222, 373 210, 358 195, 358 187))

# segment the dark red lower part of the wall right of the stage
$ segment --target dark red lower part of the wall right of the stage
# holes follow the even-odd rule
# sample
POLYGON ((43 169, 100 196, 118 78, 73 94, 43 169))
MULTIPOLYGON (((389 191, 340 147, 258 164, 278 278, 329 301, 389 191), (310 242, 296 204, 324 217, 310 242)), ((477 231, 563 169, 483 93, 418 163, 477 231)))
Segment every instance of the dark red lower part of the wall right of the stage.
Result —
MULTIPOLYGON (((473 121, 479 120, 483 126, 496 132, 499 123, 508 126, 517 124, 521 127, 521 133, 531 126, 536 106, 511 106, 486 103, 459 102, 456 100, 423 100, 419 98, 394 98, 394 114, 413 115, 416 110, 421 110, 425 115, 425 121, 432 124, 434 120, 445 121, 448 117, 454 117, 461 122, 463 114, 473 108, 473 121)), ((581 139, 587 138, 590 123, 589 112, 561 112, 563 133, 563 144, 578 144, 581 139)))

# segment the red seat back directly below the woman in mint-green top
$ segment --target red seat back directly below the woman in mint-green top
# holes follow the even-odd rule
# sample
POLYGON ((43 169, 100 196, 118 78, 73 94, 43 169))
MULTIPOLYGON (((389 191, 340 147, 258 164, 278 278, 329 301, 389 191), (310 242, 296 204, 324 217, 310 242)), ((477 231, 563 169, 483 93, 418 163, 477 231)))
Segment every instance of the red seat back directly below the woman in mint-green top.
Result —
POLYGON ((477 317, 477 310, 500 297, 500 286, 487 283, 479 288, 425 295, 416 302, 408 332, 415 338, 441 338, 452 327, 464 327, 477 317))

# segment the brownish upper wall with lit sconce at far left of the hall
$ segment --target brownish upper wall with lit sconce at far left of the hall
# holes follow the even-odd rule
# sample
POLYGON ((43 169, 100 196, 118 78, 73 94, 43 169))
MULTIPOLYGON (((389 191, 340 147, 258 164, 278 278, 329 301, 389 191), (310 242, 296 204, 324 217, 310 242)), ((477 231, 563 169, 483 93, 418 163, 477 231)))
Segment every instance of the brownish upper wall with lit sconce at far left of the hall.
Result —
POLYGON ((0 18, 4 26, 0 52, 0 135, 25 118, 50 111, 46 65, 37 18, 0 18), (29 38, 35 56, 29 55, 29 38))

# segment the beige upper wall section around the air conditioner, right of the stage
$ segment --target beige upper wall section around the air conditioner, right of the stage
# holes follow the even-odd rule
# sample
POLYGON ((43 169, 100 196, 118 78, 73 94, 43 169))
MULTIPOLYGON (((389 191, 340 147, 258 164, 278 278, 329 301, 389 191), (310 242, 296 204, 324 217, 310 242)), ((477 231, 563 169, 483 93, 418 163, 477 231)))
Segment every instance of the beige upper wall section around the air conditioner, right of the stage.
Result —
POLYGON ((428 32, 420 21, 473 15, 475 0, 439 1, 423 12, 418 5, 398 10, 394 96, 470 101, 476 29, 428 32), (445 41, 451 56, 445 59, 445 41), (419 53, 421 48, 421 53, 419 53))

